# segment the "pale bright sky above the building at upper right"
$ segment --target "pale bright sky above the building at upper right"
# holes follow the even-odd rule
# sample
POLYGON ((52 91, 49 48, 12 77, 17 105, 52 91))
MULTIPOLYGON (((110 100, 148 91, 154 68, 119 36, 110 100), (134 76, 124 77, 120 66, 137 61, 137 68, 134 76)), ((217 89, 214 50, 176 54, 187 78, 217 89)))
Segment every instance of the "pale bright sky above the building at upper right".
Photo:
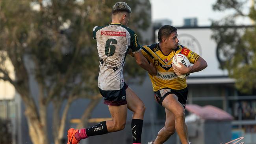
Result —
MULTIPOLYGON (((217 0, 150 0, 152 6, 152 20, 169 19, 173 26, 182 26, 184 18, 197 17, 198 26, 210 26, 210 19, 219 20, 230 13, 216 12, 212 10, 212 5, 217 0)), ((251 2, 248 0, 244 7, 244 12, 249 12, 251 2)), ((237 24, 251 24, 249 18, 237 18, 237 24)))

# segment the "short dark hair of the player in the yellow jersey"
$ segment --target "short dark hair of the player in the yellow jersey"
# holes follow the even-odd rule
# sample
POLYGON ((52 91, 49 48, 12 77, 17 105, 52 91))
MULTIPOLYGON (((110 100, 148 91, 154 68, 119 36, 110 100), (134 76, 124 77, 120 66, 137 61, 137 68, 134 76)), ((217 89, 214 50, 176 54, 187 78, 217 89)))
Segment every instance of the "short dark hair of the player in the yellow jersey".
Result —
POLYGON ((177 31, 174 26, 164 25, 158 31, 158 41, 162 42, 162 39, 169 37, 173 32, 177 31))

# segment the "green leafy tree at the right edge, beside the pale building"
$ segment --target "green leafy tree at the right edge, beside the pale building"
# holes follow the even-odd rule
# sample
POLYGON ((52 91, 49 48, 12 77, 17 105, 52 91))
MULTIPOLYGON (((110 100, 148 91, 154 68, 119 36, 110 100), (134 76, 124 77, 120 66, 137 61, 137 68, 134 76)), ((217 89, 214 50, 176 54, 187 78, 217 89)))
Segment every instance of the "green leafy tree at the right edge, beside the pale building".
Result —
POLYGON ((236 87, 244 93, 256 89, 256 25, 243 28, 231 28, 236 25, 237 17, 247 17, 255 22, 256 7, 252 0, 249 13, 243 8, 247 1, 217 0, 213 5, 215 11, 232 10, 234 13, 212 23, 213 39, 217 42, 217 58, 220 67, 228 70, 231 78, 236 79, 236 87))

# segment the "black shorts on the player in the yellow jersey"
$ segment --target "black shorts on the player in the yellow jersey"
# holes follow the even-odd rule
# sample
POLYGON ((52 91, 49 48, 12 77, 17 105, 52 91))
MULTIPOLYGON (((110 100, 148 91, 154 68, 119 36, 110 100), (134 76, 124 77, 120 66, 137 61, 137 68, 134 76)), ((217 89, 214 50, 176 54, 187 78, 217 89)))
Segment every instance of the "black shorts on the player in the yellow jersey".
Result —
POLYGON ((186 100, 187 100, 187 87, 181 90, 174 90, 170 88, 163 88, 155 92, 155 99, 156 101, 162 105, 163 100, 169 94, 175 94, 178 97, 178 101, 186 107, 186 100))

